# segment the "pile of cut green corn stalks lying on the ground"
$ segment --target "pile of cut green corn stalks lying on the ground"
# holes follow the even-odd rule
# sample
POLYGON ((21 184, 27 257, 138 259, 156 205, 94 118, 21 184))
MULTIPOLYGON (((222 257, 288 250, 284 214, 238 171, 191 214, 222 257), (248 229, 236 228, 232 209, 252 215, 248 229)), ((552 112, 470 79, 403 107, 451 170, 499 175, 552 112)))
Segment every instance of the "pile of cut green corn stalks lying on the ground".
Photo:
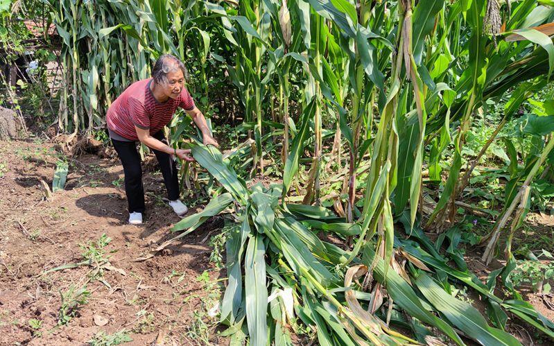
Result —
MULTIPOLYGON (((313 103, 315 100, 310 108, 315 107, 313 103)), ((368 241, 358 254, 321 241, 311 230, 345 239, 359 234, 361 227, 346 223, 344 218, 322 207, 279 202, 283 185, 247 187, 216 148, 193 144, 191 149, 198 163, 220 182, 223 191, 204 211, 175 224, 173 231, 185 230, 187 234, 210 215, 232 213, 230 219, 236 225, 227 236, 228 281, 220 305, 220 320, 230 325, 224 335, 231 336, 234 342, 243 342, 248 337, 253 345, 292 345, 291 331, 284 326, 302 323, 313 326, 319 343, 328 345, 438 342, 437 335, 423 325, 434 327, 458 345, 464 345, 460 333, 482 345, 519 345, 517 339, 502 330, 501 323, 492 327, 476 309, 444 291, 443 284, 433 279, 435 270, 444 270, 442 273, 449 279, 475 288, 483 299, 498 306, 499 315, 510 311, 535 326, 544 318, 533 309, 529 311, 527 305, 521 306, 522 301, 496 297, 489 287, 477 284, 467 267, 449 268, 447 259, 436 252, 419 229, 415 231, 418 241, 401 241, 396 245, 395 256, 386 259, 388 263, 377 255, 385 251, 379 242, 368 241), (432 252, 423 250, 428 246, 432 252), (401 266, 398 262, 401 258, 410 265, 401 266), (374 289, 372 294, 364 295, 360 290, 367 286, 374 289), (386 297, 375 294, 381 286, 386 288, 386 297), (416 292, 447 320, 440 320, 424 309, 416 292), (376 315, 377 311, 382 311, 382 315, 376 315), (408 328, 419 331, 415 333, 418 340, 391 327, 392 315, 399 318, 399 311, 412 316, 413 320, 400 319, 408 328)), ((385 180, 377 185, 385 185, 385 180)), ((409 218, 407 214, 406 232, 410 232, 409 218)), ((459 237, 449 238, 451 245, 456 246, 456 239, 459 241, 459 237)), ((459 253, 454 251, 452 255, 459 253)), ((554 336, 552 327, 548 322, 542 330, 554 336)))

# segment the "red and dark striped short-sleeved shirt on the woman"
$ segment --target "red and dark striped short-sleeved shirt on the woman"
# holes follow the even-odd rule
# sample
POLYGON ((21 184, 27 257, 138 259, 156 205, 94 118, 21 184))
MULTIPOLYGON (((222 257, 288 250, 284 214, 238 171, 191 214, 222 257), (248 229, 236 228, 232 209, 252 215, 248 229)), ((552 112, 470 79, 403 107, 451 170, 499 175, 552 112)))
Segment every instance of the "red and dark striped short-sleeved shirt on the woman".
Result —
POLYGON ((169 98, 159 103, 150 90, 152 78, 139 80, 125 89, 107 110, 106 123, 108 130, 130 141, 137 141, 137 128, 150 130, 154 135, 166 126, 177 107, 193 110, 194 101, 187 88, 183 88, 177 98, 169 98))

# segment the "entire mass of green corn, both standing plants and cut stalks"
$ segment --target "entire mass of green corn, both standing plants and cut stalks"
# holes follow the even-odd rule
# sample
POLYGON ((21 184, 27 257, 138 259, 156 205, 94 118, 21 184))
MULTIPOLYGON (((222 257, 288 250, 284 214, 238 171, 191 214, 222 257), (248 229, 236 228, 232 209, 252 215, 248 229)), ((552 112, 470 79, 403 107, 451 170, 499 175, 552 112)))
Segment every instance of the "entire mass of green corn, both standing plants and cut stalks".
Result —
POLYGON ((205 209, 173 227, 184 231, 176 238, 218 214, 232 225, 219 308, 232 345, 292 345, 306 328, 321 345, 519 345, 508 319, 554 338, 553 322, 510 281, 512 238, 535 182, 553 181, 554 107, 534 98, 554 70, 552 1, 49 6, 63 44, 64 131, 101 128, 107 107, 163 53, 187 64, 207 114, 217 113, 214 78, 235 96, 225 102, 248 133, 240 150, 202 146, 184 114, 169 129, 172 145, 191 148, 215 180, 205 209), (529 100, 534 111, 521 115, 529 100), (471 126, 491 102, 503 105, 502 119, 468 154, 471 126), (519 139, 499 137, 516 118, 519 139), (533 144, 529 152, 518 152, 518 140, 533 144), (483 282, 467 267, 456 225, 496 141, 507 182, 481 259, 505 266, 483 282), (272 183, 252 184, 254 176, 272 183), (456 285, 486 313, 458 299, 456 285))

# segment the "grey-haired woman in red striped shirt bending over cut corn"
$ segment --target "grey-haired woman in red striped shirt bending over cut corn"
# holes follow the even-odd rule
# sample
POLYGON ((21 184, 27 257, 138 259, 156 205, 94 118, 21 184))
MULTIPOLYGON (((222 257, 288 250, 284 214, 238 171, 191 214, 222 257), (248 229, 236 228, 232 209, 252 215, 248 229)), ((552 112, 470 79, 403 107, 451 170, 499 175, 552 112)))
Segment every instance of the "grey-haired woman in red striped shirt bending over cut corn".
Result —
POLYGON ((137 141, 154 151, 164 175, 168 204, 178 215, 186 214, 188 209, 179 200, 178 171, 173 155, 186 161, 193 159, 190 150, 168 146, 164 126, 171 121, 177 107, 182 107, 202 131, 204 144, 218 146, 210 135, 204 115, 194 105, 184 87, 186 73, 184 64, 178 58, 162 55, 154 65, 152 78, 130 85, 107 110, 107 129, 125 173, 130 224, 141 224, 144 213, 141 157, 137 152, 137 141))

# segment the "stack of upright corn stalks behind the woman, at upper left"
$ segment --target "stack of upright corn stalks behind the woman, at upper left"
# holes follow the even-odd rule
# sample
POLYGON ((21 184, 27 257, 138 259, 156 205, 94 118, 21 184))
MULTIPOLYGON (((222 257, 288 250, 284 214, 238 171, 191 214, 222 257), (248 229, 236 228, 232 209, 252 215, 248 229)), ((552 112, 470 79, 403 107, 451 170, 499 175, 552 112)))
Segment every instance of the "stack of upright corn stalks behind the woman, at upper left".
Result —
POLYGON ((112 100, 132 81, 148 77, 159 54, 178 53, 167 34, 164 1, 48 3, 62 38, 60 60, 67 80, 58 126, 73 136, 100 125, 112 100), (112 37, 120 31, 125 33, 122 40, 112 37))

